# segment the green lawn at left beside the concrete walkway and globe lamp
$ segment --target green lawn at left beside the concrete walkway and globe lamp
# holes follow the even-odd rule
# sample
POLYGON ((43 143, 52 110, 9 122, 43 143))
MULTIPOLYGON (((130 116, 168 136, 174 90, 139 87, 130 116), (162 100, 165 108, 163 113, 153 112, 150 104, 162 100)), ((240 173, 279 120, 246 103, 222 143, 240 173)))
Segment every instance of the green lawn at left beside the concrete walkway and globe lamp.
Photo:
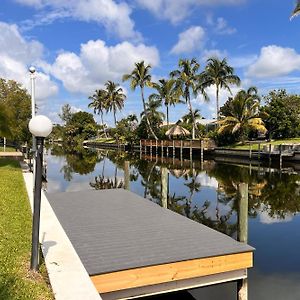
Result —
POLYGON ((20 166, 0 159, 0 299, 54 299, 45 266, 29 269, 31 211, 20 166))

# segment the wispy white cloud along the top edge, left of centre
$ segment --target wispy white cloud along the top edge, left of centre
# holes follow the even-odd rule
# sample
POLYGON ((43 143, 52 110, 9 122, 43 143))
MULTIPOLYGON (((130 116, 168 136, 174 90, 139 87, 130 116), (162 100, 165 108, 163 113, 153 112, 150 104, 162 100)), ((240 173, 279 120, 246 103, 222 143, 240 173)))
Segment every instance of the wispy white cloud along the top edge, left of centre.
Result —
POLYGON ((53 22, 59 18, 74 18, 85 22, 97 22, 106 30, 115 32, 123 39, 140 39, 140 34, 134 30, 134 22, 130 18, 131 8, 125 2, 113 0, 15 0, 32 6, 42 14, 34 20, 27 21, 25 27, 53 22))

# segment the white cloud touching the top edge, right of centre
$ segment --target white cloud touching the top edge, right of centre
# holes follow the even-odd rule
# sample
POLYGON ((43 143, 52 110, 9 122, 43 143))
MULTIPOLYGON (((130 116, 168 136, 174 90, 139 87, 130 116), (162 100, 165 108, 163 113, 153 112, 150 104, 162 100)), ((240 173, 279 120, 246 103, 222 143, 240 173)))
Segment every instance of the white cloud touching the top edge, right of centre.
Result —
POLYGON ((158 18, 179 23, 189 16, 196 6, 238 5, 245 0, 136 0, 158 18))

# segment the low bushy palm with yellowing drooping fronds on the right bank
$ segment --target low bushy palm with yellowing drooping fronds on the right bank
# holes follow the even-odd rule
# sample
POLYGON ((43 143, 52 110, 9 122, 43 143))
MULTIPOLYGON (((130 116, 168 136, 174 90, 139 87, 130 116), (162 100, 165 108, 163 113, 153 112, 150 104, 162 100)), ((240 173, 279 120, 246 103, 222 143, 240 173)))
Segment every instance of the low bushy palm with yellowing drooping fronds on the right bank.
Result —
POLYGON ((239 91, 234 98, 229 98, 221 109, 224 119, 219 121, 219 133, 239 132, 244 138, 247 129, 267 132, 259 112, 260 102, 256 91, 252 87, 247 91, 239 91))

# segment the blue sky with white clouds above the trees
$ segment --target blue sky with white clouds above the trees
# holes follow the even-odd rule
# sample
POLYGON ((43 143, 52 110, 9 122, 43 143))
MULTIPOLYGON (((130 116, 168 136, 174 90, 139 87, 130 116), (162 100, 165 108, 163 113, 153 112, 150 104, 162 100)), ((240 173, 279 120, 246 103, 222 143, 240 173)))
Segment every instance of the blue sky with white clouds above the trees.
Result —
MULTIPOLYGON (((53 122, 66 103, 88 111, 88 96, 107 80, 119 82, 127 94, 118 119, 139 115, 139 93, 121 77, 140 60, 152 65, 158 80, 177 68, 179 58, 197 58, 202 70, 208 57, 226 57, 242 79, 240 88, 300 93, 300 17, 289 20, 294 5, 294 0, 1 0, 0 77, 29 87, 27 70, 34 65, 39 113, 53 122)), ((199 96, 193 106, 212 118, 214 87, 207 92, 210 102, 199 96)), ((227 97, 222 92, 222 102, 227 97)), ((170 119, 186 111, 179 105, 170 119)), ((112 124, 112 116, 105 121, 112 124)))

